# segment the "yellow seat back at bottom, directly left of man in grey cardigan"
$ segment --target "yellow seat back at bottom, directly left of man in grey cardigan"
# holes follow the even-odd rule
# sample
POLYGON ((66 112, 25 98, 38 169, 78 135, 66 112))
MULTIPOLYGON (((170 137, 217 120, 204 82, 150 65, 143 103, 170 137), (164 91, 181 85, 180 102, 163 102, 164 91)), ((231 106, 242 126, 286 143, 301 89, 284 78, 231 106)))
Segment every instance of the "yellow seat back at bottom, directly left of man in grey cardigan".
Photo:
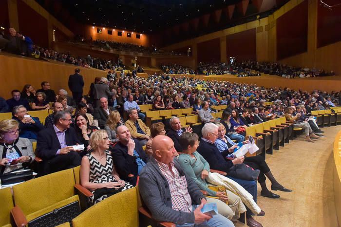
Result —
POLYGON ((73 227, 118 226, 138 227, 137 187, 127 189, 106 198, 100 203, 88 208, 72 220, 73 227))

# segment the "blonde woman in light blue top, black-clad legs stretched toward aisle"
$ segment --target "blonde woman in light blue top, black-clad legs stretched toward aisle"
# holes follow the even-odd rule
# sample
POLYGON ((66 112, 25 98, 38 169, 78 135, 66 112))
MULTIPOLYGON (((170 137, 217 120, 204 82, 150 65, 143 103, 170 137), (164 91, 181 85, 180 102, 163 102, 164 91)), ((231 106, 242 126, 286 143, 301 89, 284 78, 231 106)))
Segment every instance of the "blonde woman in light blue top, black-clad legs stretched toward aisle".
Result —
MULTIPOLYGON (((216 124, 218 129, 218 138, 215 141, 215 146, 218 148, 220 153, 224 158, 228 160, 235 159, 233 155, 234 149, 237 148, 237 144, 234 143, 230 138, 225 135, 225 126, 221 123, 216 124)), ((244 141, 243 144, 248 143, 248 141, 244 141)), ((252 167, 255 170, 260 170, 260 174, 258 176, 258 183, 262 187, 261 196, 276 199, 280 198, 279 195, 272 193, 266 187, 265 180, 267 176, 271 181, 271 189, 272 190, 281 190, 281 191, 291 191, 290 189, 285 189, 280 183, 277 182, 275 177, 272 175, 270 168, 267 166, 264 157, 257 155, 252 157, 245 157, 244 164, 252 167)))

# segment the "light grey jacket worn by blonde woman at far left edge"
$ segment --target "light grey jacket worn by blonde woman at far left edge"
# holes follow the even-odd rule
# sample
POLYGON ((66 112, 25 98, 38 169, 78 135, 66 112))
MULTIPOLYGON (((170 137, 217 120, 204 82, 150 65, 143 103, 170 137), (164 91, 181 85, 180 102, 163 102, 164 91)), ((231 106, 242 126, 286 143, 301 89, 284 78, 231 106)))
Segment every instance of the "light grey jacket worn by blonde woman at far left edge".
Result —
MULTIPOLYGON (((36 155, 33 151, 32 143, 29 139, 18 138, 16 141, 14 141, 13 146, 15 147, 16 151, 19 151, 19 154, 21 153, 21 156, 30 156, 32 158, 31 163, 34 161, 36 155)), ((0 143, 0 159, 6 157, 6 154, 3 153, 4 149, 5 147, 3 146, 2 143, 0 143)), ((0 166, 0 173, 2 173, 3 171, 4 171, 4 166, 0 166)))

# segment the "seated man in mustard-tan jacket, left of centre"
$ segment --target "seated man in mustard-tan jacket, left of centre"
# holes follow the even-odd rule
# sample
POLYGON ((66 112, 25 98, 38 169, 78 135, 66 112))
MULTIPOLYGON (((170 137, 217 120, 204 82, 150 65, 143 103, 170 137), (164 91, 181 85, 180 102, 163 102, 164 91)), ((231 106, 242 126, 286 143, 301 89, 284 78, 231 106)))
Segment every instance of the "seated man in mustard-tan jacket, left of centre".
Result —
POLYGON ((146 145, 151 137, 151 130, 138 118, 138 112, 135 108, 130 108, 128 115, 129 119, 125 122, 125 126, 129 129, 132 137, 138 139, 141 146, 146 145))

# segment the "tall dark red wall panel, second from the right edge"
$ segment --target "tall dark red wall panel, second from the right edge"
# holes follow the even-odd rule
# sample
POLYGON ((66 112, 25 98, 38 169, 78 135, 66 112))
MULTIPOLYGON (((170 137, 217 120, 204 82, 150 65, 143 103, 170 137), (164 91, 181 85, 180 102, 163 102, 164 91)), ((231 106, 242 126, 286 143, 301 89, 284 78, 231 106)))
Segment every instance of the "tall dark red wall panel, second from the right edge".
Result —
POLYGON ((277 60, 307 51, 308 0, 277 19, 277 60))

